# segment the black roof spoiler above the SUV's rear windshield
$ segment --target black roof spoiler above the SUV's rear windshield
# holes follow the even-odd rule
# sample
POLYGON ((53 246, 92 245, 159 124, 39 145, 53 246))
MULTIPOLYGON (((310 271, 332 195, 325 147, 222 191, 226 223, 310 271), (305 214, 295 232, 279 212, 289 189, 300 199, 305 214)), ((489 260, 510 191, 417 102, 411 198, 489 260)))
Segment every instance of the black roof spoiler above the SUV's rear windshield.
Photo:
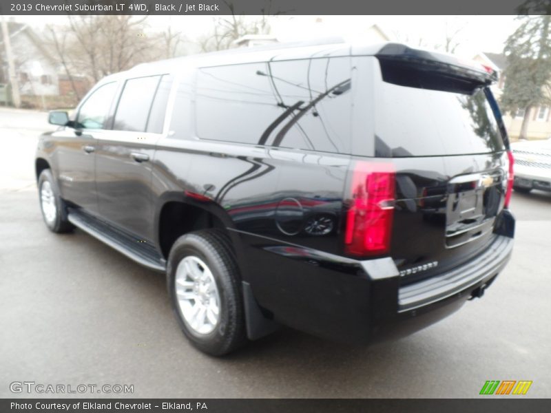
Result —
MULTIPOLYGON (((382 64, 384 81, 404 85, 391 72, 402 68, 402 75, 410 70, 430 76, 441 76, 462 83, 467 89, 488 86, 497 81, 497 72, 475 61, 462 61, 452 54, 413 49, 399 43, 384 45, 377 54, 382 64), (385 70, 386 68, 386 70, 385 70), (389 70, 392 68, 392 70, 389 70), (391 76, 386 76, 385 71, 391 76)), ((411 86, 411 85, 407 85, 411 86)))

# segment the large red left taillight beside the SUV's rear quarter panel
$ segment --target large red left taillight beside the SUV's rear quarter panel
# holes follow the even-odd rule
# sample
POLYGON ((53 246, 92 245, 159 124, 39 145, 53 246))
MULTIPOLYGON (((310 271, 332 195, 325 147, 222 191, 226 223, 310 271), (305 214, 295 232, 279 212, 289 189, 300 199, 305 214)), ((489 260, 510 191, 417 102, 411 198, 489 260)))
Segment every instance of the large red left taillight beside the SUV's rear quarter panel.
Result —
POLYGON ((396 172, 392 164, 355 162, 344 248, 351 255, 382 255, 391 246, 396 172))

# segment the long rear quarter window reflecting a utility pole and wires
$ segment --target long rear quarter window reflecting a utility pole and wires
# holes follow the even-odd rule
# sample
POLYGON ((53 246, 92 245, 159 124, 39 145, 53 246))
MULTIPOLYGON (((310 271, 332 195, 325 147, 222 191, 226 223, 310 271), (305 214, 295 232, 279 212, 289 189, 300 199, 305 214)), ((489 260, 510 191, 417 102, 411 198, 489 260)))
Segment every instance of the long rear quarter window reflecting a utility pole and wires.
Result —
POLYGON ((350 59, 249 63, 199 70, 199 138, 350 151, 350 59))

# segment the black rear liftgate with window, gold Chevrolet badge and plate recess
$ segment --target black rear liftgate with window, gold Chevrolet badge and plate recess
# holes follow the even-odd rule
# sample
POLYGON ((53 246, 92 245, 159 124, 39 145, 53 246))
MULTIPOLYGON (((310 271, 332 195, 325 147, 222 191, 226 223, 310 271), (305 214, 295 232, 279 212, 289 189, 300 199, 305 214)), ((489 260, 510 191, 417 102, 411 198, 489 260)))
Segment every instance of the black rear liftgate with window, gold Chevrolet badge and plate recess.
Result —
POLYGON ((355 154, 390 158, 395 167, 391 256, 414 281, 491 244, 506 192, 506 147, 490 91, 477 81, 375 58, 368 72, 373 117, 363 121, 373 138, 358 133, 355 154))

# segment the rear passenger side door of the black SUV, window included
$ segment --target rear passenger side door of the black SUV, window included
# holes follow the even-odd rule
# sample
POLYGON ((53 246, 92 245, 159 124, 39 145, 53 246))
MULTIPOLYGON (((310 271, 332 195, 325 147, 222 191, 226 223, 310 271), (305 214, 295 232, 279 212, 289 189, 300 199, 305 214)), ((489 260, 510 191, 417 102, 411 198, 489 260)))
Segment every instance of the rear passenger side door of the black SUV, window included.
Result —
POLYGON ((152 167, 163 134, 171 75, 129 78, 122 86, 112 130, 98 139, 96 187, 101 217, 153 238, 152 167))

